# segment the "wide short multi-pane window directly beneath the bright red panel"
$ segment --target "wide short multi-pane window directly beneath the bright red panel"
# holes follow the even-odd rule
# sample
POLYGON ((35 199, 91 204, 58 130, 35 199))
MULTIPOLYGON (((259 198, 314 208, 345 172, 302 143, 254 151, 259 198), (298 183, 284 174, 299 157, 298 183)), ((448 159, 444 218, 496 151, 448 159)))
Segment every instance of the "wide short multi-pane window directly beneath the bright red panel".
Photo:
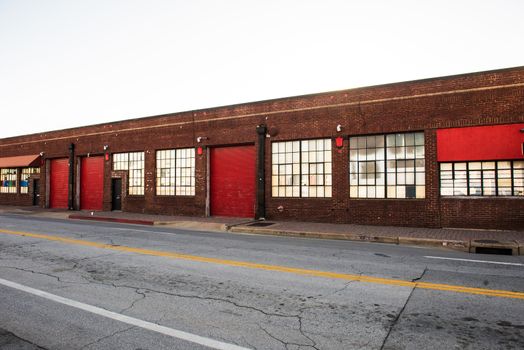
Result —
POLYGON ((442 196, 524 196, 524 161, 440 163, 442 196))

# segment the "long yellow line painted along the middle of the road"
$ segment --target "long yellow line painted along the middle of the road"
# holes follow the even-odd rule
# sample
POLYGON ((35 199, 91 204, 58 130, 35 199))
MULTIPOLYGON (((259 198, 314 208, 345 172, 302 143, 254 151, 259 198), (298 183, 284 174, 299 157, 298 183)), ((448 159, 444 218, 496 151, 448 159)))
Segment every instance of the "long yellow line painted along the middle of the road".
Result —
POLYGON ((2 230, 2 229, 0 229, 0 233, 16 235, 16 236, 31 237, 31 238, 39 238, 39 239, 45 239, 48 241, 62 242, 62 243, 67 243, 67 244, 81 245, 81 246, 94 247, 94 248, 109 249, 109 250, 115 250, 115 251, 121 251, 121 252, 159 256, 159 257, 165 257, 165 258, 170 258, 170 259, 205 262, 205 263, 210 263, 210 264, 244 267, 244 268, 249 268, 249 269, 257 269, 257 270, 285 272, 285 273, 292 273, 295 275, 323 277, 323 278, 358 281, 358 282, 375 283, 375 284, 400 286, 400 287, 440 290, 440 291, 448 291, 448 292, 455 292, 455 293, 486 295, 486 296, 493 296, 493 297, 500 297, 500 298, 524 299, 524 292, 512 292, 508 290, 496 290, 496 289, 484 289, 484 288, 470 288, 470 287, 462 287, 462 286, 440 284, 440 283, 411 282, 411 281, 403 281, 403 280, 392 279, 392 278, 380 278, 380 277, 353 275, 353 274, 347 274, 347 273, 336 273, 336 272, 300 269, 300 268, 278 266, 278 265, 257 264, 257 263, 250 263, 246 261, 208 258, 204 256, 180 254, 180 253, 166 252, 166 251, 160 251, 160 250, 151 250, 151 249, 119 246, 119 245, 112 245, 112 244, 104 244, 104 243, 98 243, 98 242, 84 241, 80 239, 44 235, 44 234, 39 234, 39 233, 10 231, 10 230, 2 230))

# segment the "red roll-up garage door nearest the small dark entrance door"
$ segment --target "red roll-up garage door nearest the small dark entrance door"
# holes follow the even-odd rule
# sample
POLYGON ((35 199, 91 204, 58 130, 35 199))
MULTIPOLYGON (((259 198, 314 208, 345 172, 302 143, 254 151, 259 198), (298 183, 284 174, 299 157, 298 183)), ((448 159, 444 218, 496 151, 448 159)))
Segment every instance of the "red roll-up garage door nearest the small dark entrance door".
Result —
POLYGON ((80 166, 80 209, 102 210, 104 158, 84 157, 80 166))

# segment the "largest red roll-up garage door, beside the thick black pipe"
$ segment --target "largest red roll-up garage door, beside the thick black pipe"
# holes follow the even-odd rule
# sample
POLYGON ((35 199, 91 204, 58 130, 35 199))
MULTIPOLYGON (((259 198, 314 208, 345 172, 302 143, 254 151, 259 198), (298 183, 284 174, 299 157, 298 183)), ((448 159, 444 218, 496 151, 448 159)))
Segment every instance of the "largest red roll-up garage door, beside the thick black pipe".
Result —
POLYGON ((255 147, 211 149, 211 215, 255 216, 255 147))

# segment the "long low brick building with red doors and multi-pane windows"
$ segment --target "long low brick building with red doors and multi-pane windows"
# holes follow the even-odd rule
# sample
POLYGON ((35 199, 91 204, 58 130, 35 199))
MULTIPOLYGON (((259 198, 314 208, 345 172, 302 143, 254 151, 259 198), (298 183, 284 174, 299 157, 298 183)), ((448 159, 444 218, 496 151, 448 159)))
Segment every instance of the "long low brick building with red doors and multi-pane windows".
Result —
POLYGON ((524 67, 0 140, 0 204, 524 228, 524 67))

